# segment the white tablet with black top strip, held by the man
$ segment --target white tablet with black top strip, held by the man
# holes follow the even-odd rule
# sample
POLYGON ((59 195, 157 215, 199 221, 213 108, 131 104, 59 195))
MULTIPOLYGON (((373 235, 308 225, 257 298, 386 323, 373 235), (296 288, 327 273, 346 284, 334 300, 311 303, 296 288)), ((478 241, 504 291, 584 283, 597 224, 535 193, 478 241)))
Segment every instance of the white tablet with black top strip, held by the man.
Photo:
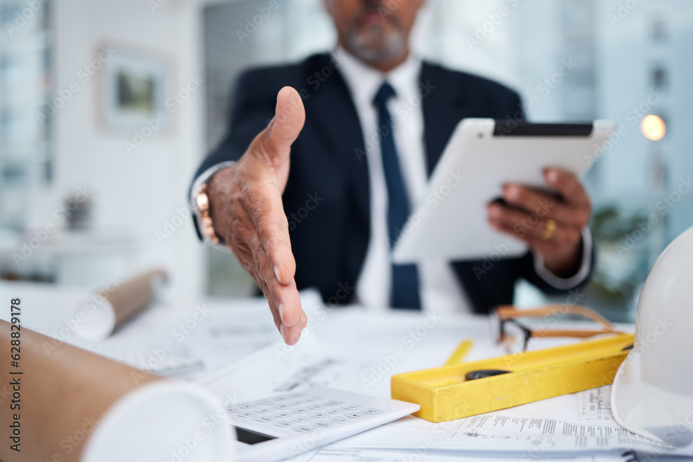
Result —
POLYGON ((507 123, 466 118, 457 125, 431 175, 428 193, 414 202, 394 249, 394 260, 511 258, 522 241, 491 228, 486 206, 507 183, 548 189, 543 170, 578 177, 601 156, 615 123, 507 123))

